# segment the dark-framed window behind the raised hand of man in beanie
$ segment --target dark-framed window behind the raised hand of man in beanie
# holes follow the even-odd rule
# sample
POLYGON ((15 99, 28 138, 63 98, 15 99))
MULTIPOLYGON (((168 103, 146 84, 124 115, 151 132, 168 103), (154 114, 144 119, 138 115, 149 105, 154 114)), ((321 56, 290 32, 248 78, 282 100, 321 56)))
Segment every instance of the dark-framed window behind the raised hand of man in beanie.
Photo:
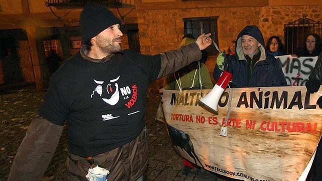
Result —
MULTIPOLYGON (((202 33, 210 32, 210 37, 218 44, 217 18, 218 16, 183 18, 184 34, 192 34, 197 38, 202 33)), ((208 54, 216 54, 217 50, 214 45, 211 44, 207 48, 207 52, 208 54)))

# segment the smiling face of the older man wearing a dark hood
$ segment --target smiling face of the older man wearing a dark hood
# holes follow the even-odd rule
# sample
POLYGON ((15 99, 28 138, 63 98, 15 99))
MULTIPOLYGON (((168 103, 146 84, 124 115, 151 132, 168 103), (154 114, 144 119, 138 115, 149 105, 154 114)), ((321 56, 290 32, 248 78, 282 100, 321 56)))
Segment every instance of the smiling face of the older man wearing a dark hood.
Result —
POLYGON ((242 35, 241 46, 244 54, 247 54, 248 56, 253 56, 258 52, 259 43, 252 36, 242 35))

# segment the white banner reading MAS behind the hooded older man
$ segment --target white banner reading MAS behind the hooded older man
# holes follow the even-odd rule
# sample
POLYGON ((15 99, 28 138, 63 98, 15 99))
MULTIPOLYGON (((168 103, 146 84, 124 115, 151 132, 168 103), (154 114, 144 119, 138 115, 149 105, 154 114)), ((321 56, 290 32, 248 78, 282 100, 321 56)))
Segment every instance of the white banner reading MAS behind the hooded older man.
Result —
POLYGON ((287 85, 305 85, 313 70, 317 56, 295 57, 291 55, 275 56, 282 66, 287 85))

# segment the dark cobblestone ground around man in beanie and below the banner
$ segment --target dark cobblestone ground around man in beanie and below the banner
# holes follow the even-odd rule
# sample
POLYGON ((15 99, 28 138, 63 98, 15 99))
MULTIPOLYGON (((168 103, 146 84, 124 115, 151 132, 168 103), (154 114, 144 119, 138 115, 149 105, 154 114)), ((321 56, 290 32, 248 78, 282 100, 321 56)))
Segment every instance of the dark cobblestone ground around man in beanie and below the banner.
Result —
MULTIPOLYGON (((43 101, 44 90, 26 87, 0 92, 0 180, 6 180, 17 148, 31 119, 43 101)), ((198 180, 197 168, 181 174, 182 159, 172 147, 163 122, 154 119, 160 100, 158 91, 147 94, 145 120, 148 128, 148 168, 144 180, 198 180)), ((67 155, 64 129, 59 145, 42 180, 62 180, 67 155)), ((218 180, 232 180, 218 175, 218 180)))

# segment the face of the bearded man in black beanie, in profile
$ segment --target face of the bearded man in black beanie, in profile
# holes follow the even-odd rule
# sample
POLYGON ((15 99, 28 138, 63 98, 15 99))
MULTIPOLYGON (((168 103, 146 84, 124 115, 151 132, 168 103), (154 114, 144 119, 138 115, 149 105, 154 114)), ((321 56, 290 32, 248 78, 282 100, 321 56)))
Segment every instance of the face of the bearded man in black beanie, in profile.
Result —
MULTIPOLYGON (((94 22, 93 22, 94 23, 94 22)), ((121 48, 121 36, 123 33, 119 29, 119 24, 113 24, 99 34, 94 39, 96 45, 103 53, 119 52, 121 48)))

